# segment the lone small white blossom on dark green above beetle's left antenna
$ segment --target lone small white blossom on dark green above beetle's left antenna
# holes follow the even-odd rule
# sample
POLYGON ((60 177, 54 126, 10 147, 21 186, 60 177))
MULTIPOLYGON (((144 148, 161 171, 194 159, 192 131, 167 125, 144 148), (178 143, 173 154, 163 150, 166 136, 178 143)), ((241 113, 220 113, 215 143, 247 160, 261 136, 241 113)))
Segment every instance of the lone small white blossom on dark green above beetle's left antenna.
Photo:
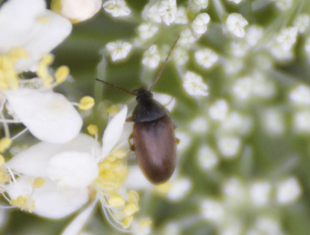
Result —
POLYGON ((113 61, 121 60, 127 57, 131 50, 131 44, 128 42, 117 40, 115 42, 109 42, 106 45, 108 52, 111 55, 113 61))

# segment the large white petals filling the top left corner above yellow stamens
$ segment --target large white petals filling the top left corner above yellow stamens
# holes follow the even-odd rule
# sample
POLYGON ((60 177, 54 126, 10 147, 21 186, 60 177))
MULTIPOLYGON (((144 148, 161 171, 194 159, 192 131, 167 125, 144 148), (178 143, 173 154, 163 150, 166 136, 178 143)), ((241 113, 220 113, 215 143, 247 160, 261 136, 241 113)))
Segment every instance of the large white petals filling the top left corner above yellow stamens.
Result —
POLYGON ((44 0, 9 0, 0 8, 0 54, 21 47, 27 57, 15 62, 17 71, 36 70, 49 53, 71 32, 69 20, 46 9, 44 0))

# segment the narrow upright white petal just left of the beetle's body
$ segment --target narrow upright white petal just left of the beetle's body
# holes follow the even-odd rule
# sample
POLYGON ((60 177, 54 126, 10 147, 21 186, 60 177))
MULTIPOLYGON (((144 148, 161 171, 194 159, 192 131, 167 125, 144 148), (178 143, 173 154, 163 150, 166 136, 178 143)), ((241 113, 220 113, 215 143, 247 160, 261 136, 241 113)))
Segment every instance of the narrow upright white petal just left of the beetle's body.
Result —
POLYGON ((122 135, 125 119, 127 115, 127 106, 125 105, 117 114, 112 117, 104 130, 102 137, 102 157, 107 156, 118 139, 122 135))

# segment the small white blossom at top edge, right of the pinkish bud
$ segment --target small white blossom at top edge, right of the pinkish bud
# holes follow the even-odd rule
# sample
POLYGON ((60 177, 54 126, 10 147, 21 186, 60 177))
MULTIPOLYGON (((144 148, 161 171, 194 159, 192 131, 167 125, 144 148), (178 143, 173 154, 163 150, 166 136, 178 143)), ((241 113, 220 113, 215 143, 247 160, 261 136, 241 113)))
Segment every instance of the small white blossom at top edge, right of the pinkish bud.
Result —
POLYGON ((130 9, 124 0, 108 0, 103 3, 103 8, 113 17, 129 16, 130 9))

